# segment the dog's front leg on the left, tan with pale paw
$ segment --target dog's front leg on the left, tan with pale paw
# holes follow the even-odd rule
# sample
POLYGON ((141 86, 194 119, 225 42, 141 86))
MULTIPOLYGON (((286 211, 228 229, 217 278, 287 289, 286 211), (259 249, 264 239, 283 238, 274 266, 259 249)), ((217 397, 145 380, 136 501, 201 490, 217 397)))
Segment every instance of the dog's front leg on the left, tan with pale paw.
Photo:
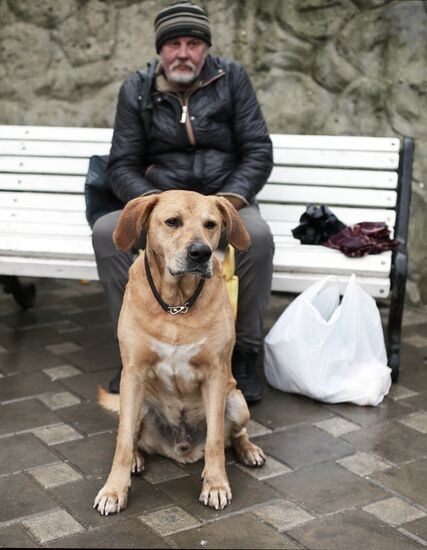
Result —
POLYGON ((110 475, 95 498, 94 508, 108 516, 126 508, 134 460, 134 439, 144 400, 144 383, 133 368, 123 368, 120 383, 120 421, 110 475))

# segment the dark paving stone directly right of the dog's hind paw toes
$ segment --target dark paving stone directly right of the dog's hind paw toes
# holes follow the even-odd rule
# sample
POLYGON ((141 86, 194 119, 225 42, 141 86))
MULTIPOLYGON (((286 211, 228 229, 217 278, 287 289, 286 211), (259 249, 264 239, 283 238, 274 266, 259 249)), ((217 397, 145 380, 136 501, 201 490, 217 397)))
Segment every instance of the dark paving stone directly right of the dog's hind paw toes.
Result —
POLYGON ((350 454, 354 448, 314 426, 296 426, 257 440, 264 452, 292 469, 350 454))

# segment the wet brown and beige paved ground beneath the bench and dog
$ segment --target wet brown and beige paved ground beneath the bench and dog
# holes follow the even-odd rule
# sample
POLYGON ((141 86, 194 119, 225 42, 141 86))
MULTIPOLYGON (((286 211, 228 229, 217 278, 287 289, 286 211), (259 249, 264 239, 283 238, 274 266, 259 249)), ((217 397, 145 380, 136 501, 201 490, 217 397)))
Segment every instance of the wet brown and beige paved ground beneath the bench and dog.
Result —
MULTIPOLYGON (((95 400, 119 365, 98 283, 40 280, 21 312, 0 294, 0 546, 310 548, 427 545, 427 312, 405 313, 400 383, 376 408, 266 388, 250 432, 264 468, 227 452, 234 499, 198 502, 200 463, 148 457, 128 510, 92 509, 117 418, 95 400)), ((288 298, 274 295, 268 326, 288 298)), ((383 311, 385 314, 386 311, 383 311)))

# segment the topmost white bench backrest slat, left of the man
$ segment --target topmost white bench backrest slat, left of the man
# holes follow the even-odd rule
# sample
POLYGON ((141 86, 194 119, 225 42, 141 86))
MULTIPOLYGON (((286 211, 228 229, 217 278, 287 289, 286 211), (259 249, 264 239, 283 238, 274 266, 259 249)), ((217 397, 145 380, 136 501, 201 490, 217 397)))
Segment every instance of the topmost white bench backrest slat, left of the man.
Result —
POLYGON ((111 142, 112 128, 77 128, 71 126, 0 126, 2 139, 42 139, 47 141, 111 142))

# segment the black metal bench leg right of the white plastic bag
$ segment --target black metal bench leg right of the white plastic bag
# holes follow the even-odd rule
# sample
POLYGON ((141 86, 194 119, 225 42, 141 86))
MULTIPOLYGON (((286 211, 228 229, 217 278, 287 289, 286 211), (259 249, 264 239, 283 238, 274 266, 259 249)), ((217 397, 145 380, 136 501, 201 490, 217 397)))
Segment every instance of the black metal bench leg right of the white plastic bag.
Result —
POLYGON ((394 259, 391 277, 391 300, 387 339, 388 366, 392 369, 391 379, 393 382, 397 382, 399 379, 400 336, 402 331, 407 273, 408 256, 398 250, 394 259))

